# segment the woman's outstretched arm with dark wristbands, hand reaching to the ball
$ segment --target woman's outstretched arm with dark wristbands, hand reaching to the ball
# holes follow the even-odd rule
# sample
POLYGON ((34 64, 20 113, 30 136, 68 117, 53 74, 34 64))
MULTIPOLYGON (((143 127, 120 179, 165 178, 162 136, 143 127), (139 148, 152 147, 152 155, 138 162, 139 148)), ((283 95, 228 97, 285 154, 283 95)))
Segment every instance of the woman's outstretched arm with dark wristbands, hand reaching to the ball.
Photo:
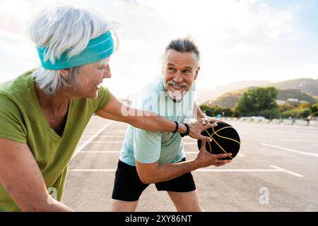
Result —
MULTIPOLYGON (((147 131, 172 132, 175 131, 176 127, 174 121, 169 121, 153 112, 130 107, 129 105, 124 104, 124 102, 119 101, 116 97, 114 97, 114 95, 111 95, 110 102, 106 105, 106 107, 95 112, 95 114, 105 119, 122 121, 131 124, 131 126, 147 131)), ((211 138, 201 136, 201 131, 214 126, 213 124, 209 124, 209 122, 210 119, 206 119, 204 123, 202 120, 198 120, 194 124, 190 124, 189 136, 204 141, 210 141, 211 138)), ((185 133, 186 131, 186 126, 179 124, 177 132, 185 133)))

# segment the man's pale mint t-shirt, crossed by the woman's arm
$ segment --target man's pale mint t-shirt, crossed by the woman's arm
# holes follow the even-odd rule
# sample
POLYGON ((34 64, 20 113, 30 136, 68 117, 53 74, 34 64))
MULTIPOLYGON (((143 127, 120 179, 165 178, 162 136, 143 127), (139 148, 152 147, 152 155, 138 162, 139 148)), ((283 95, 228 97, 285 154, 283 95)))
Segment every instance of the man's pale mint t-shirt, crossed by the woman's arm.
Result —
MULTIPOLYGON (((173 102, 165 92, 163 76, 160 75, 141 93, 137 94, 133 107, 155 112, 179 123, 189 123, 193 117, 195 84, 184 95, 182 102, 173 102)), ((179 162, 184 157, 180 133, 151 132, 128 126, 119 160, 128 165, 141 163, 159 164, 179 162)))

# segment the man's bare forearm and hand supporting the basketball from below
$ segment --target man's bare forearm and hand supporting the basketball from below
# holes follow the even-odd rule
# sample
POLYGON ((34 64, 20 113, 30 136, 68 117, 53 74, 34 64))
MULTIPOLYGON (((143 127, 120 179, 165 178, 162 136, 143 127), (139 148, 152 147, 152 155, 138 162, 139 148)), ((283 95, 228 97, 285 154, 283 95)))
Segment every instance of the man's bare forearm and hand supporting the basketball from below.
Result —
POLYGON ((158 162, 144 164, 136 161, 136 169, 141 182, 144 184, 165 182, 202 167, 210 165, 219 167, 230 162, 230 160, 220 159, 232 155, 231 153, 213 155, 208 153, 205 147, 206 142, 202 141, 201 150, 194 160, 162 165, 158 164, 158 162))

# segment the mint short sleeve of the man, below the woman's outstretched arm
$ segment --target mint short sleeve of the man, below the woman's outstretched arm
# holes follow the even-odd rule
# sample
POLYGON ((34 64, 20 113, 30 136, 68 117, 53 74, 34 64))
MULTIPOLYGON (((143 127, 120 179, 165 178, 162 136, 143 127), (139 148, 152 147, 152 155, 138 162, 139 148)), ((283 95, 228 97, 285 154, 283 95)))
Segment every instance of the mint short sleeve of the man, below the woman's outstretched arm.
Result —
POLYGON ((161 133, 134 128, 134 157, 141 163, 157 162, 161 151, 161 133))

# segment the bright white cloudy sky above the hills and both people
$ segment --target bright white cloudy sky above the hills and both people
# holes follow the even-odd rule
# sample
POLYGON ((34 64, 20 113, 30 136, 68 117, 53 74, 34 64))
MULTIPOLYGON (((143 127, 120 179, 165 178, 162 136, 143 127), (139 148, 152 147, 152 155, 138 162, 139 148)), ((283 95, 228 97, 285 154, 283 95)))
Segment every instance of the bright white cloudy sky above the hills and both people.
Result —
POLYGON ((119 23, 112 78, 103 85, 121 98, 158 76, 167 44, 187 35, 201 52, 199 89, 318 78, 318 0, 0 0, 0 82, 40 65, 28 21, 57 3, 119 23))

